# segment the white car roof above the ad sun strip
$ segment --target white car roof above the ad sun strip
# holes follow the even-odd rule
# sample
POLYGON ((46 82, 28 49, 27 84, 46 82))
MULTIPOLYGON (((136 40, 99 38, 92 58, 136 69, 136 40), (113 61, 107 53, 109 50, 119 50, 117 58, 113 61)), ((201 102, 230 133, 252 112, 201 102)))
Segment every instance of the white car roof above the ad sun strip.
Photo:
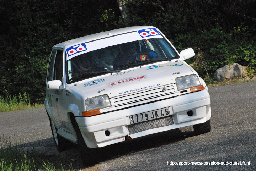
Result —
POLYGON ((153 26, 134 26, 134 27, 119 28, 119 29, 115 29, 115 30, 110 30, 110 31, 91 34, 91 35, 86 35, 84 37, 68 40, 66 42, 56 44, 53 47, 67 48, 71 45, 79 44, 81 42, 86 42, 87 43, 87 42, 91 42, 91 41, 94 41, 94 40, 113 37, 113 36, 116 36, 116 35, 130 33, 130 32, 135 32, 137 30, 146 29, 146 28, 156 28, 156 27, 153 27, 153 26))

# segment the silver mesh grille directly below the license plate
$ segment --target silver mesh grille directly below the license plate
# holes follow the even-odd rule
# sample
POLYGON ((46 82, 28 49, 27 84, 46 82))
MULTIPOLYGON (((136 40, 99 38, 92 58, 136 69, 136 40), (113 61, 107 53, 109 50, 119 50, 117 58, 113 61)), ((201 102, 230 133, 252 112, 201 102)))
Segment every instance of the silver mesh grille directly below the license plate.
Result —
POLYGON ((146 131, 149 129, 164 127, 164 126, 173 125, 173 124, 174 122, 172 120, 172 115, 171 115, 171 116, 162 117, 156 120, 128 125, 128 130, 129 130, 129 135, 132 135, 132 134, 146 131))

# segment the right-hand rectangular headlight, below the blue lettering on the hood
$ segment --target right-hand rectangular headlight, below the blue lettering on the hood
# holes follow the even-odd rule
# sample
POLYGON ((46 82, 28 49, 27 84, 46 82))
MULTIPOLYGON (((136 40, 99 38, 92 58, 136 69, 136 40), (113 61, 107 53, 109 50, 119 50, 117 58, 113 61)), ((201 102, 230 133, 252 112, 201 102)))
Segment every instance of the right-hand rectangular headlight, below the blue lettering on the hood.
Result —
POLYGON ((201 86, 199 79, 195 74, 176 78, 176 85, 178 90, 201 86))

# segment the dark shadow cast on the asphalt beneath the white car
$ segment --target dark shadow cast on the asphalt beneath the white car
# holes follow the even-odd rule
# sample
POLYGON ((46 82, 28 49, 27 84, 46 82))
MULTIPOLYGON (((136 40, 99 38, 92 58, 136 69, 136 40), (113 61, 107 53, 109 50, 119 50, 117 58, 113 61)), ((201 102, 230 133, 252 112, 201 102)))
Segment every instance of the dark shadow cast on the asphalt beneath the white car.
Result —
MULTIPOLYGON (((175 143, 192 136, 194 136, 193 131, 181 131, 179 129, 175 129, 143 138, 131 139, 127 140, 126 142, 109 145, 100 149, 101 157, 97 163, 105 162, 139 151, 157 148, 162 145, 175 143)), ((46 160, 51 162, 56 169, 60 167, 60 163, 64 169, 70 169, 69 165, 71 161, 74 170, 88 168, 87 166, 82 165, 80 150, 76 144, 71 145, 70 149, 62 152, 59 152, 55 148, 53 138, 42 139, 22 145, 26 147, 36 147, 37 151, 45 154, 46 160)))

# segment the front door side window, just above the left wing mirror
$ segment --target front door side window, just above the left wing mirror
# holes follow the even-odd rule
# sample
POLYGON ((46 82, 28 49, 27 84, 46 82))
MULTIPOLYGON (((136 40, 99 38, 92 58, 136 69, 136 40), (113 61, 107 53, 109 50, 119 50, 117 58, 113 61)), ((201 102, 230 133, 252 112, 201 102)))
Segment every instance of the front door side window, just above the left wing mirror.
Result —
POLYGON ((62 81, 63 77, 63 50, 57 50, 54 63, 53 80, 62 81))

